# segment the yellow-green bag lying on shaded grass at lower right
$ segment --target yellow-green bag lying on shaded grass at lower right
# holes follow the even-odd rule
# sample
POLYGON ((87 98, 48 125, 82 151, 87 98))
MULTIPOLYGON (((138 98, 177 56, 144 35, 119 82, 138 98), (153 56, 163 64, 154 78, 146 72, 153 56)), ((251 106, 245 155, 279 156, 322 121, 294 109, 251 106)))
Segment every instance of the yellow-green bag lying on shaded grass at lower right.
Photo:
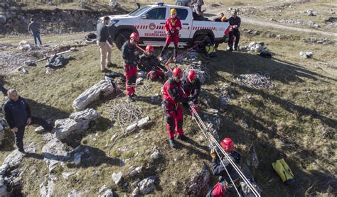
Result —
POLYGON ((289 185, 295 182, 294 174, 284 159, 279 159, 272 163, 272 167, 277 172, 284 184, 289 185))

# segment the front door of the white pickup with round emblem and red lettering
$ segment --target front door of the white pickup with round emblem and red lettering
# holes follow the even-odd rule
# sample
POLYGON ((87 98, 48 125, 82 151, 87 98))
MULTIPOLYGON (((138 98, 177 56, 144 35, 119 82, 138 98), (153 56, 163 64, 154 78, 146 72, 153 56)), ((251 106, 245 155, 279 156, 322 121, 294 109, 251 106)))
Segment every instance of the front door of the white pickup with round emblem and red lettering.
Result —
POLYGON ((139 34, 144 40, 162 40, 165 35, 166 7, 156 7, 141 16, 139 34), (161 39, 162 38, 162 39, 161 39))

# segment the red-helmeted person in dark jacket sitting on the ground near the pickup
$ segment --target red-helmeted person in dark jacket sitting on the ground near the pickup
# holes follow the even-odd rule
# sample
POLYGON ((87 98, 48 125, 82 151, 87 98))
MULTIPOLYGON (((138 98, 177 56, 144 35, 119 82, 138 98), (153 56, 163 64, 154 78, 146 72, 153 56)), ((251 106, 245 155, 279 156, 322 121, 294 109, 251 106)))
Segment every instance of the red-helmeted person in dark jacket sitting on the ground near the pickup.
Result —
POLYGON ((164 80, 165 74, 167 72, 166 67, 159 63, 156 55, 154 55, 154 47, 151 45, 146 46, 146 52, 140 57, 141 63, 139 64, 139 69, 147 73, 151 80, 157 78, 164 80))

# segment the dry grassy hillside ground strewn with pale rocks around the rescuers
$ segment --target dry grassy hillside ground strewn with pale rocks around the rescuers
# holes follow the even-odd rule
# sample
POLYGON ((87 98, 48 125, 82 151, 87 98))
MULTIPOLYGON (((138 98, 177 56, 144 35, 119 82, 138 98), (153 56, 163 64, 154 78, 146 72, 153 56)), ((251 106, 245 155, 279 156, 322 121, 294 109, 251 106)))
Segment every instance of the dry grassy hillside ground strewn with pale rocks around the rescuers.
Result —
MULTIPOLYGON (((245 13, 302 5, 260 3, 245 13)), ((247 4, 213 2, 208 8, 252 7, 247 4)), ((190 140, 171 150, 162 123, 162 84, 139 80, 143 99, 127 106, 119 50, 112 54, 115 76, 105 77, 97 46, 85 43, 87 33, 54 33, 43 35, 43 47, 19 30, 18 36, 0 38, 0 82, 18 89, 34 115, 55 123, 55 133, 27 128, 23 156, 0 120, 0 196, 203 196, 217 178, 210 173, 208 142, 188 111, 183 128, 190 140), (28 60, 71 47, 77 50, 65 56, 75 60, 65 67, 46 73, 43 61, 25 66, 26 74, 17 71, 28 60), (127 118, 120 122, 123 114, 127 118)), ((201 118, 218 140, 235 140, 242 171, 254 177, 262 196, 336 196, 336 37, 245 22, 241 35, 240 52, 220 45, 218 57, 193 51, 170 66, 197 70, 201 118), (280 158, 294 171, 296 184, 285 186, 273 171, 272 162, 280 158)))

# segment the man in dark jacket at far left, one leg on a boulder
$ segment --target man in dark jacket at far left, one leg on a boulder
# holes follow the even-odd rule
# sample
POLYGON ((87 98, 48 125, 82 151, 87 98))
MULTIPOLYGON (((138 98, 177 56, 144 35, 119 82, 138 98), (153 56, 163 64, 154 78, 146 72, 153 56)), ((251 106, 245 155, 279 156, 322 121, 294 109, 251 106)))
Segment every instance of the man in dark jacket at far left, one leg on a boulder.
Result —
POLYGON ((26 125, 41 125, 45 130, 52 131, 53 126, 36 116, 31 116, 26 99, 18 96, 18 91, 10 89, 7 92, 8 100, 2 106, 2 113, 9 124, 9 128, 15 135, 15 143, 18 151, 25 153, 23 149, 23 135, 26 125))

